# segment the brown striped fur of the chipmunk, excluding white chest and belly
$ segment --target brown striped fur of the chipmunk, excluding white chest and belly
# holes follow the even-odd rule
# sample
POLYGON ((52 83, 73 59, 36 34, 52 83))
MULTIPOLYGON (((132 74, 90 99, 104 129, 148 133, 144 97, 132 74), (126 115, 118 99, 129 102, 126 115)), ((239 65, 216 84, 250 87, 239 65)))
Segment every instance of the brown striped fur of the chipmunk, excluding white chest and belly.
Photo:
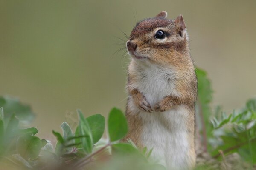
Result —
MULTIPOLYGON (((144 147, 141 141, 144 122, 139 113, 164 112, 183 106, 189 112, 183 121, 186 122, 186 131, 188 132, 187 140, 190 147, 187 156, 190 160, 188 164, 191 167, 195 164, 194 127, 197 78, 189 53, 188 36, 183 17, 179 16, 175 20, 169 20, 166 19, 166 16, 166 12, 161 12, 157 17, 140 21, 131 31, 128 42, 136 44, 136 51, 128 50, 132 61, 128 68, 127 85, 129 99, 126 117, 129 133, 125 139, 131 139, 137 146, 144 147), (166 33, 164 40, 157 40, 154 36, 159 29, 166 33), (169 69, 173 75, 166 75, 166 82, 170 81, 170 85, 172 83, 175 87, 174 93, 166 94, 160 101, 153 104, 135 86, 141 79, 147 79, 139 73, 148 65, 169 69), (168 77, 175 78, 170 79, 168 77), (136 107, 134 108, 134 106, 136 107)), ((162 119, 161 122, 166 128, 172 127, 168 119, 164 117, 159 117, 159 119, 162 119)))

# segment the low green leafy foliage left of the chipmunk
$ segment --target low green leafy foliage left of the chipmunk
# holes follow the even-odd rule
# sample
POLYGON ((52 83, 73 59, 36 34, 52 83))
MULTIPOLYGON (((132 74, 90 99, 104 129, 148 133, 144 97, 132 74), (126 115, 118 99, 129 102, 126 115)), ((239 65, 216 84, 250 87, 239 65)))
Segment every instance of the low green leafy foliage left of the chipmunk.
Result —
MULTIPOLYGON (((20 103, 19 105, 21 108, 24 107, 20 103)), ((74 133, 67 122, 61 124, 62 134, 52 130, 57 140, 55 150, 51 141, 35 136, 38 133, 35 127, 21 129, 15 114, 10 116, 6 124, 3 108, 0 108, 0 113, 0 161, 6 159, 19 166, 23 165, 25 169, 71 170, 86 167, 96 160, 108 159, 110 155, 115 158, 109 159, 110 162, 125 155, 127 157, 124 160, 134 161, 134 158, 142 160, 140 165, 136 165, 140 169, 143 167, 164 169, 156 163, 149 163, 151 151, 146 148, 140 151, 131 141, 119 142, 128 132, 128 125, 124 114, 117 108, 113 108, 108 116, 109 140, 102 139, 105 131, 104 116, 95 114, 85 118, 84 114, 77 110, 79 125, 74 133)), ((97 164, 94 166, 98 167, 97 164)), ((108 163, 98 168, 111 169, 111 167, 113 164, 108 163)))

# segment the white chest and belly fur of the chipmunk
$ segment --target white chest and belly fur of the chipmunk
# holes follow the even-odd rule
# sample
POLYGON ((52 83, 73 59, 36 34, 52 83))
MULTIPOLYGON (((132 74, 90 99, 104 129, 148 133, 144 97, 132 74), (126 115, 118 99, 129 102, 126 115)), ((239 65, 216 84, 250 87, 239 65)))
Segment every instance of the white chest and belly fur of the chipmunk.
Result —
MULTIPOLYGON (((138 68, 136 83, 133 84, 154 105, 164 96, 179 96, 175 90, 175 71, 171 68, 138 68)), ((135 107, 135 106, 134 106, 135 107)), ((135 109, 135 108, 134 108, 135 109)), ((188 169, 189 142, 186 132, 186 116, 189 114, 184 105, 165 112, 140 112, 143 130, 141 143, 148 149, 153 148, 151 156, 168 170, 188 169)))

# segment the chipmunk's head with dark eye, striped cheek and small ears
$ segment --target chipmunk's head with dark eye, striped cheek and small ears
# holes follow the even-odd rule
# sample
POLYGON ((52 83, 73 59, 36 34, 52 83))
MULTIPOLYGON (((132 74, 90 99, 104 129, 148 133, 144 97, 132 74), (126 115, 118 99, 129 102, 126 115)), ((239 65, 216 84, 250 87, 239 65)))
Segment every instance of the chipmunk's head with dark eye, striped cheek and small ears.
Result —
POLYGON ((189 53, 182 15, 175 20, 166 17, 167 12, 162 11, 154 18, 140 21, 131 31, 126 46, 135 60, 170 63, 180 60, 185 52, 189 53))

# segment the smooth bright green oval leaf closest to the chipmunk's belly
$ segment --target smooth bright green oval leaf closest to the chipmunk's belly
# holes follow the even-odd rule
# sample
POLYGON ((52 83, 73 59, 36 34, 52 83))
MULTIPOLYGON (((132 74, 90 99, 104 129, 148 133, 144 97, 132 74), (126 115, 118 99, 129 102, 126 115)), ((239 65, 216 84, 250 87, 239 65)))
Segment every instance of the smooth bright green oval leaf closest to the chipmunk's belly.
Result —
POLYGON ((121 110, 113 108, 108 116, 108 134, 110 141, 117 141, 125 137, 128 124, 121 110))

